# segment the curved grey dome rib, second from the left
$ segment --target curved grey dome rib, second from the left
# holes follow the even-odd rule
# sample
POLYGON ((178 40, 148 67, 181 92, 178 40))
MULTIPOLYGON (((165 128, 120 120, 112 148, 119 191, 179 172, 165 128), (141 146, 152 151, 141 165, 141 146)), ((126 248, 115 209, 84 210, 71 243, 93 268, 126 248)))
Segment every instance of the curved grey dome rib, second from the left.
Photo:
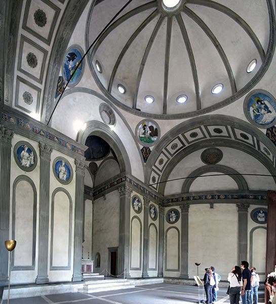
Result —
POLYGON ((150 21, 152 21, 156 15, 158 14, 158 11, 155 10, 153 11, 135 30, 135 32, 130 36, 130 39, 128 40, 128 42, 126 43, 126 45, 124 46, 123 50, 121 51, 120 55, 118 56, 114 67, 112 69, 111 72, 111 76, 109 79, 109 84, 108 84, 108 92, 111 93, 112 90, 112 85, 113 85, 113 81, 115 78, 115 74, 117 72, 117 69, 124 57, 124 55, 126 54, 127 50, 129 49, 129 47, 131 46, 132 42, 135 40, 135 38, 138 36, 138 34, 149 24, 150 21))

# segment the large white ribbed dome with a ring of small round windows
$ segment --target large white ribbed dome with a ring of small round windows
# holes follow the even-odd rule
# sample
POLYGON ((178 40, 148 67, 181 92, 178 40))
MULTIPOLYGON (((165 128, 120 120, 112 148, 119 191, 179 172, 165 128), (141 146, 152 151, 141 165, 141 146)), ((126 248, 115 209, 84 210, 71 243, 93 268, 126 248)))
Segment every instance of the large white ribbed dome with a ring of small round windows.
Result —
POLYGON ((128 2, 93 3, 87 58, 105 96, 140 116, 184 118, 229 104, 258 83, 273 52, 270 0, 167 2, 133 0, 110 24, 128 2))

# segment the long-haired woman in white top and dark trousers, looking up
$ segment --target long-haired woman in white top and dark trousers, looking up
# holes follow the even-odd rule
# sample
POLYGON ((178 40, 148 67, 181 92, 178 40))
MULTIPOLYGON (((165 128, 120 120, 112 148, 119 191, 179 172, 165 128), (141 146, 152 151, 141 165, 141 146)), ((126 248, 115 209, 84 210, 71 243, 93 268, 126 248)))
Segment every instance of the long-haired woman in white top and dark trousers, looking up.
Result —
POLYGON ((230 283, 229 300, 230 304, 239 304, 241 288, 243 286, 242 270, 239 266, 234 266, 228 274, 227 280, 230 283))

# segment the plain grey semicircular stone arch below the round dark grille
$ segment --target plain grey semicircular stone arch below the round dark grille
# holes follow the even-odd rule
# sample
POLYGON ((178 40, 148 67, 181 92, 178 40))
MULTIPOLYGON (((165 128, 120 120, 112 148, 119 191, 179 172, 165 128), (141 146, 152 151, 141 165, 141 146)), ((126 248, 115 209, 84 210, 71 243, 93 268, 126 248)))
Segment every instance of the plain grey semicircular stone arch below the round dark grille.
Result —
POLYGON ((189 192, 191 184, 196 179, 196 177, 193 177, 193 176, 201 176, 201 175, 203 175, 205 173, 209 173, 209 172, 221 172, 221 173, 225 173, 225 174, 237 174, 237 175, 229 175, 229 176, 238 185, 239 190, 241 190, 241 191, 248 190, 248 185, 247 185, 247 182, 246 182, 245 178, 238 171, 236 171, 236 170, 234 170, 230 167, 223 166, 223 165, 207 165, 207 166, 203 166, 201 168, 198 168, 198 169, 192 171, 188 175, 189 178, 184 179, 182 189, 181 189, 181 193, 188 193, 189 192))

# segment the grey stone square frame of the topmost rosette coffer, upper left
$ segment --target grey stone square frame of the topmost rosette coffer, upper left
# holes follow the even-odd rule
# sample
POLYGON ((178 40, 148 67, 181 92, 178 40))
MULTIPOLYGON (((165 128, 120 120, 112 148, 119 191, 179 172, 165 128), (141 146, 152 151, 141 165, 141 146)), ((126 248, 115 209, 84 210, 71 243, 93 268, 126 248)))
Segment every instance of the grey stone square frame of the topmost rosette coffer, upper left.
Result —
POLYGON ((55 26, 56 26, 56 23, 57 23, 57 19, 58 19, 59 13, 60 13, 60 8, 58 8, 57 6, 55 6, 53 3, 51 3, 48 0, 41 0, 41 1, 43 1, 51 9, 53 9, 55 11, 48 36, 45 38, 42 35, 38 34, 35 30, 33 30, 32 28, 27 26, 27 19, 28 19, 28 14, 29 14, 29 8, 30 8, 30 5, 31 5, 31 0, 27 0, 27 3, 26 3, 22 28, 24 30, 26 30, 27 32, 29 32, 30 34, 32 34, 33 36, 35 36, 37 39, 43 41, 44 43, 46 43, 47 45, 50 46, 50 43, 51 43, 51 40, 52 40, 52 37, 53 37, 53 32, 54 32, 54 29, 55 29, 55 26))

